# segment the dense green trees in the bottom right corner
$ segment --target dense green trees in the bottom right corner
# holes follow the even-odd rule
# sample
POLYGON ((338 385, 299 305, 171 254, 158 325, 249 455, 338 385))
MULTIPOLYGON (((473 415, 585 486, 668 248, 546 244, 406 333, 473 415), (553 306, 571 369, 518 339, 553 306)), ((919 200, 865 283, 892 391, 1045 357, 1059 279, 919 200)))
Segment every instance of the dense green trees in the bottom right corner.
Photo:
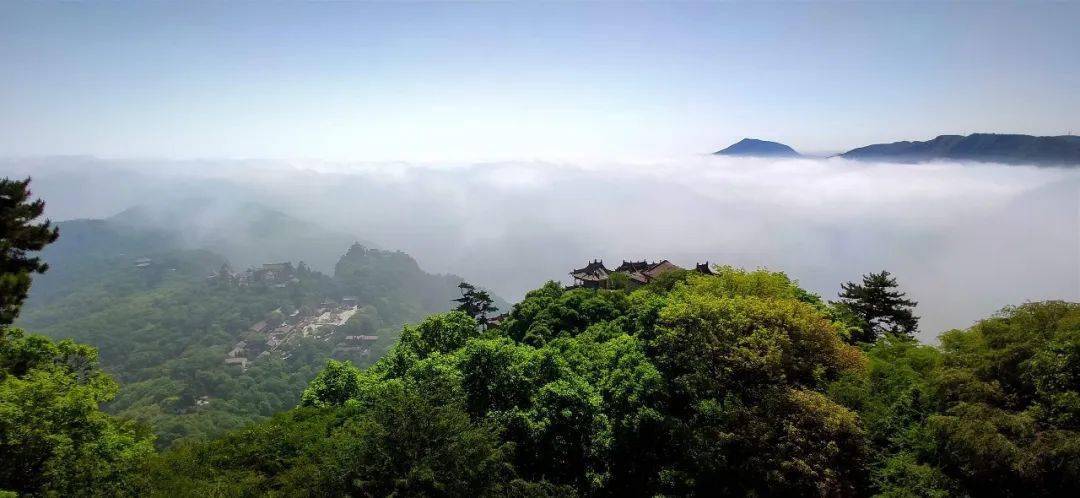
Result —
POLYGON ((1080 493, 1080 305, 1029 304, 942 336, 929 459, 977 496, 1080 493))

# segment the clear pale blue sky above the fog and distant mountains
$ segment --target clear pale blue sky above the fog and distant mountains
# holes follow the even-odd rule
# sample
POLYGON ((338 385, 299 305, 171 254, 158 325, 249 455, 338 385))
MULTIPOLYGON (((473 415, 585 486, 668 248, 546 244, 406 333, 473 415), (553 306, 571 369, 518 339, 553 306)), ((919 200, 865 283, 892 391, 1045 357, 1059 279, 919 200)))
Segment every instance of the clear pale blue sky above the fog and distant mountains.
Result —
POLYGON ((495 160, 1080 133, 1072 3, 0 4, 0 156, 495 160))

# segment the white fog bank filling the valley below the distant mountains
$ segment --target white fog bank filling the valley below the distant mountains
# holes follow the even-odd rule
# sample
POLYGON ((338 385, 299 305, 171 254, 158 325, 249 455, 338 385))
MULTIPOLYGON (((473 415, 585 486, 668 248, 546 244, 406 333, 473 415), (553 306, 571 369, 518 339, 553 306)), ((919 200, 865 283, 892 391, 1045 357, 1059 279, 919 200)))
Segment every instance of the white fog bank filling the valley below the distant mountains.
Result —
POLYGON ((244 230, 225 220, 256 204, 333 233, 311 242, 332 246, 325 257, 303 254, 303 244, 268 254, 325 269, 355 240, 404 251, 428 271, 462 275, 511 302, 546 280, 568 282, 569 270, 594 258, 765 267, 825 298, 841 282, 887 269, 919 301, 924 341, 1007 305, 1080 299, 1077 169, 715 157, 483 164, 63 157, 2 160, 0 173, 32 176, 54 220, 144 206, 161 213, 144 223, 183 225, 192 245, 241 247, 233 239, 244 230))

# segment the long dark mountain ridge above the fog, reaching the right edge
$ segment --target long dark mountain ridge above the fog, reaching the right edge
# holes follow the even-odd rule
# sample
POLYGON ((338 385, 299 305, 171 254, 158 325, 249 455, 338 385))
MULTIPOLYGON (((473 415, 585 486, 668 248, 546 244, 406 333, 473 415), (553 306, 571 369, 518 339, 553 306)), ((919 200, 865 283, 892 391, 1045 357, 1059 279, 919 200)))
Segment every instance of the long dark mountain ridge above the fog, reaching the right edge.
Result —
POLYGON ((1080 136, 996 133, 941 135, 926 142, 868 145, 843 152, 839 157, 899 162, 954 159, 1011 164, 1080 165, 1080 136))

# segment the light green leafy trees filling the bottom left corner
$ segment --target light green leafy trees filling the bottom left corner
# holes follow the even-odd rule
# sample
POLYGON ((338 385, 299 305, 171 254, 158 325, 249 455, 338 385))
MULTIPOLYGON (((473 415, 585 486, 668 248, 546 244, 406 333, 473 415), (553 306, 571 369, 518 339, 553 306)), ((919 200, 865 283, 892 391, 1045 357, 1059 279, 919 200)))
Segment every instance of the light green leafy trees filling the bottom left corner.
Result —
POLYGON ((99 409, 116 391, 93 348, 0 328, 0 489, 132 493, 152 438, 99 409))

